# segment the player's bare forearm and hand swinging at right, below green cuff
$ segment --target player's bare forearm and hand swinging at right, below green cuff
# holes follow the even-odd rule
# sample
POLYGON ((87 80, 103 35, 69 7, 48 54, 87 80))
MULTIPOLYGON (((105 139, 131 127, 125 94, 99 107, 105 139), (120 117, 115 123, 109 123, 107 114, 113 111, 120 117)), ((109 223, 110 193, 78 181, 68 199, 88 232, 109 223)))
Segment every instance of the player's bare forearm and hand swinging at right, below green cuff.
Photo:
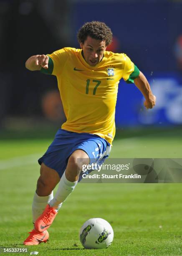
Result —
POLYGON ((156 97, 153 95, 149 82, 142 72, 139 73, 139 76, 134 79, 134 84, 142 92, 145 97, 144 106, 148 108, 154 108, 156 97))

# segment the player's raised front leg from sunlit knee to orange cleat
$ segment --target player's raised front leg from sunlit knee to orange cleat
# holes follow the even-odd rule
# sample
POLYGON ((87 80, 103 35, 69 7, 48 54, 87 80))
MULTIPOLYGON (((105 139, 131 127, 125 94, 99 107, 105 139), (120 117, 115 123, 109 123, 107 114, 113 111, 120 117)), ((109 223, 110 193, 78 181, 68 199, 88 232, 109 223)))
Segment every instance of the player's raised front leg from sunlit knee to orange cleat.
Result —
POLYGON ((53 223, 53 220, 56 217, 62 203, 76 187, 79 174, 82 169, 82 164, 89 164, 89 162, 90 159, 88 155, 81 149, 77 149, 73 152, 73 154, 71 154, 68 159, 66 171, 63 173, 63 176, 59 182, 55 197, 53 197, 53 199, 46 206, 46 209, 42 215, 40 215, 40 217, 35 221, 35 229, 38 232, 43 232, 53 223), (78 163, 77 159, 82 159, 82 161, 78 163))

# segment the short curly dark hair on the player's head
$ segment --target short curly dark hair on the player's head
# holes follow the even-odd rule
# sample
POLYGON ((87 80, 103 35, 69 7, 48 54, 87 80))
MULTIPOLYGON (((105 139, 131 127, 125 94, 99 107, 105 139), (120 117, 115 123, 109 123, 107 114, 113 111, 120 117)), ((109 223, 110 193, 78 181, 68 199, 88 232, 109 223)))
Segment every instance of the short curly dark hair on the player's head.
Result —
POLYGON ((77 33, 78 42, 84 44, 87 36, 97 40, 106 41, 106 46, 112 42, 111 28, 106 26, 106 24, 101 21, 91 21, 85 23, 77 33))

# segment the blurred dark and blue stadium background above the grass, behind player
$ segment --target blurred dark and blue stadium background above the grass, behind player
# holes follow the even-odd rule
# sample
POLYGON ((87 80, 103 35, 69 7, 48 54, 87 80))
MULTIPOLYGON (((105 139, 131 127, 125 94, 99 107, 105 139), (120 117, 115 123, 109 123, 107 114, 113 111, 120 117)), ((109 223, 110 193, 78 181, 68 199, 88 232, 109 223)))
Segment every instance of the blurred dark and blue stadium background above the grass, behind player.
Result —
POLYGON ((79 48, 76 33, 91 20, 111 28, 108 50, 126 53, 157 96, 156 107, 145 110, 139 90, 121 81, 116 127, 182 125, 182 0, 0 0, 2 136, 64 122, 56 77, 28 71, 25 61, 66 46, 79 48))

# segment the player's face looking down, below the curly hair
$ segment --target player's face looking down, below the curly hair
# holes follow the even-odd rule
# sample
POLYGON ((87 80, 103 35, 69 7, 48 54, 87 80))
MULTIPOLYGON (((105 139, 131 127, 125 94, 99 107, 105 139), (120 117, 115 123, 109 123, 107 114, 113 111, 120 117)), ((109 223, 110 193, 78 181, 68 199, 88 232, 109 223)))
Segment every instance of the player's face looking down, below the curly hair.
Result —
POLYGON ((104 51, 106 51, 106 41, 96 40, 87 36, 84 44, 80 44, 83 50, 85 61, 90 66, 96 66, 103 58, 104 51))

